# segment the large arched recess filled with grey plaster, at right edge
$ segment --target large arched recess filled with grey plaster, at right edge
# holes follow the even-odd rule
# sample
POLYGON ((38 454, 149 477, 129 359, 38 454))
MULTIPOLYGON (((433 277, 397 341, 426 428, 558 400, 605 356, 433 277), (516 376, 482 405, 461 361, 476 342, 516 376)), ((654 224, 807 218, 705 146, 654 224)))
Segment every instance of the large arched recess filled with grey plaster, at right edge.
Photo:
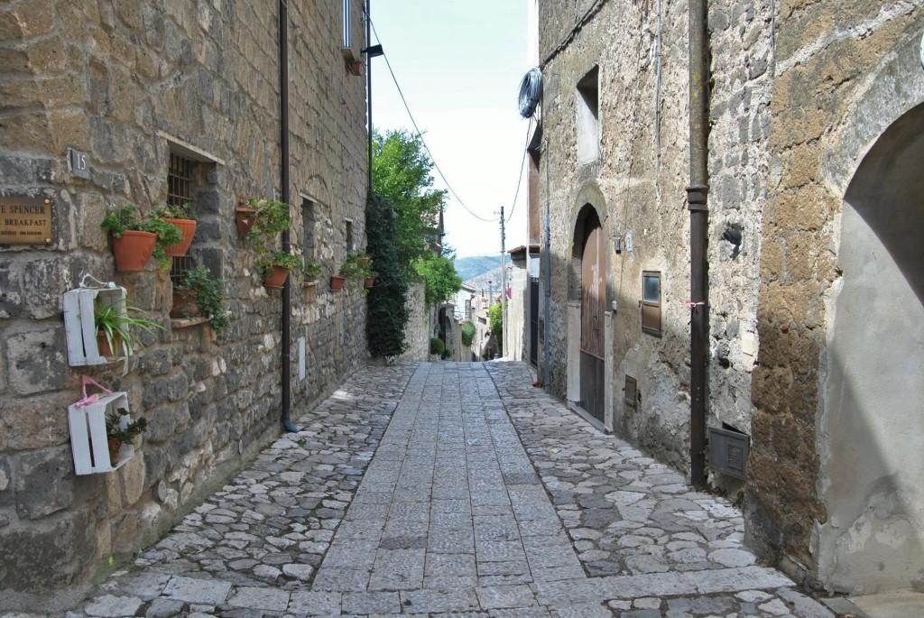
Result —
POLYGON ((821 580, 924 579, 924 103, 888 127, 845 192, 821 418, 821 580))

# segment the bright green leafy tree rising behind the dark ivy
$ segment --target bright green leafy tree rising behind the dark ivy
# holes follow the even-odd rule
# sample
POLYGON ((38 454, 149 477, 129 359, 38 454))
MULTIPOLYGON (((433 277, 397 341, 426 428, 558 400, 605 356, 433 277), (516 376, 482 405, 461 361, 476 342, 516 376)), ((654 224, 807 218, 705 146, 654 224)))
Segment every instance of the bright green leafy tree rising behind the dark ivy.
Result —
POLYGON ((440 242, 439 221, 445 190, 432 188, 432 161, 423 140, 406 130, 372 134, 372 193, 395 208, 395 249, 408 276, 414 261, 440 242))

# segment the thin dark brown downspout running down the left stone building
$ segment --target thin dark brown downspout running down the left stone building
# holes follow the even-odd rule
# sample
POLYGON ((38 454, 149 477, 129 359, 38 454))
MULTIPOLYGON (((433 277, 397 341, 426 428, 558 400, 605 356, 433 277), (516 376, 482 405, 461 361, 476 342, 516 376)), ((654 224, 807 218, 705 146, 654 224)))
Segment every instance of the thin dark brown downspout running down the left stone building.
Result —
MULTIPOLYGON (((288 131, 288 6, 286 0, 279 0, 279 165, 282 182, 282 201, 289 204, 289 131, 288 131)), ((289 212, 292 206, 289 204, 289 212)), ((289 230, 283 232, 283 251, 292 251, 292 236, 289 230)), ((283 315, 282 315, 282 378, 283 378, 283 429, 298 431, 300 428, 292 424, 290 418, 292 398, 291 370, 291 338, 292 327, 292 277, 286 277, 283 285, 283 315)))

